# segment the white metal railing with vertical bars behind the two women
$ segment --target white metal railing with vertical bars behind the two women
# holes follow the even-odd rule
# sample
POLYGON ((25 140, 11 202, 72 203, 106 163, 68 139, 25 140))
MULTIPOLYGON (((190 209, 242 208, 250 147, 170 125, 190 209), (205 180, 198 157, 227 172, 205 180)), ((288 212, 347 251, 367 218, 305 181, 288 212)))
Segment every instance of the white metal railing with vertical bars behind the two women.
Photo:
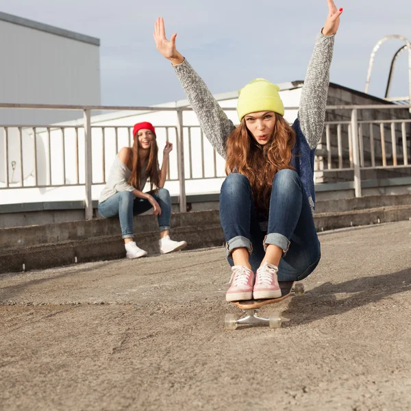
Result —
MULTIPOLYGON (((225 175, 223 160, 216 156, 216 151, 204 138, 199 126, 184 125, 183 112, 190 111, 190 108, 3 103, 0 104, 0 108, 83 110, 83 124, 0 125, 0 136, 1 130, 4 136, 3 150, 1 150, 3 153, 0 151, 0 164, 3 162, 3 184, 0 190, 84 186, 86 219, 92 218, 92 185, 105 183, 108 174, 107 166, 114 160, 119 146, 132 144, 131 125, 92 125, 91 110, 175 113, 175 125, 156 126, 156 134, 159 149, 162 147, 162 142, 169 140, 175 142, 176 150, 171 153, 167 179, 179 182, 179 208, 182 212, 186 211, 186 181, 213 179, 225 175), (10 162, 10 139, 18 142, 17 161, 10 162), (40 152, 40 149, 43 152, 40 152), (33 172, 28 179, 27 176, 25 177, 25 164, 29 161, 32 162, 29 168, 32 168, 33 172), (12 173, 17 169, 18 182, 14 182, 13 175, 10 175, 10 165, 12 173)), ((356 197, 360 197, 362 195, 361 171, 408 170, 411 155, 411 119, 408 110, 404 110, 407 108, 411 108, 411 105, 328 106, 329 113, 346 112, 347 120, 325 122, 324 138, 316 153, 316 176, 322 175, 326 181, 329 172, 349 172, 353 174, 356 197), (401 109, 408 115, 403 115, 400 119, 358 119, 359 112, 363 113, 367 110, 401 109), (386 140, 388 134, 390 134, 390 141, 386 140)), ((224 110, 235 109, 224 108, 224 110)), ((286 108, 286 110, 297 110, 297 108, 286 108)))

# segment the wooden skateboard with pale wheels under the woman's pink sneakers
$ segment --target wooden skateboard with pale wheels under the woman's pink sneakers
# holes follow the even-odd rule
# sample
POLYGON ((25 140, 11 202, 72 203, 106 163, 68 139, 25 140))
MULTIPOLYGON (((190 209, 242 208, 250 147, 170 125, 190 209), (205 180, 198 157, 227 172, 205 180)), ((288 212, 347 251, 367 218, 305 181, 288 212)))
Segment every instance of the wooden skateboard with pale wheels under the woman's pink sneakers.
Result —
POLYGON ((247 301, 231 301, 234 306, 243 310, 247 315, 240 319, 237 319, 236 314, 226 314, 224 319, 225 329, 236 329, 238 324, 269 324, 270 328, 281 327, 281 316, 279 312, 272 312, 269 318, 257 316, 256 313, 262 306, 268 304, 279 303, 292 293, 295 295, 304 294, 304 286, 301 283, 295 284, 295 282, 280 282, 279 288, 281 288, 282 296, 274 299, 261 299, 261 300, 247 300, 247 301))

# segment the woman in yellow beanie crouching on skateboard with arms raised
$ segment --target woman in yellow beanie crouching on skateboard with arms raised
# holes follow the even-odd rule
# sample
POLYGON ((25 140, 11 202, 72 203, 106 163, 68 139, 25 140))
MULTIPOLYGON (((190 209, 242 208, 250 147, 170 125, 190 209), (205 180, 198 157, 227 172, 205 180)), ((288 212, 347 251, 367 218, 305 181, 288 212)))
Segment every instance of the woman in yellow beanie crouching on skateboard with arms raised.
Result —
POLYGON ((158 51, 173 64, 214 149, 227 159, 220 219, 232 265, 227 301, 281 296, 279 281, 306 278, 319 263, 314 210, 314 154, 323 132, 334 35, 340 14, 327 0, 328 16, 316 38, 301 92, 299 113, 284 119, 279 87, 255 79, 239 92, 234 127, 206 84, 155 23, 158 51), (278 273, 278 275, 277 275, 278 273))

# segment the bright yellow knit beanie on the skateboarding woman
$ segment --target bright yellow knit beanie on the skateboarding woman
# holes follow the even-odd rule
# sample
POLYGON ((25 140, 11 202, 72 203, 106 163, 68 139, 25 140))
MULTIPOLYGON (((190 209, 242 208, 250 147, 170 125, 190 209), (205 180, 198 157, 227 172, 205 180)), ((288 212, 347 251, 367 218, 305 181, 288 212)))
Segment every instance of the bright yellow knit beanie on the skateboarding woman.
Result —
POLYGON ((277 84, 265 79, 254 79, 238 92, 238 119, 241 121, 246 114, 264 110, 284 116, 284 104, 278 92, 277 84))

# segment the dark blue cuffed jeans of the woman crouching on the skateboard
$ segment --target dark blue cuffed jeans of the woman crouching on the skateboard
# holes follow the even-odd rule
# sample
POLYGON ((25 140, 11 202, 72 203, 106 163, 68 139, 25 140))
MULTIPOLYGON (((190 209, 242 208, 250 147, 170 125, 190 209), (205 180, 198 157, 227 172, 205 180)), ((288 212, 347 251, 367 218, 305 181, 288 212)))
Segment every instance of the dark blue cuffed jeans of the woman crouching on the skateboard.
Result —
POLYGON ((233 249, 245 247, 250 253, 251 268, 256 272, 269 244, 283 249, 279 281, 306 278, 319 264, 320 242, 310 203, 295 171, 284 169, 274 177, 266 233, 260 229, 249 180, 242 174, 228 175, 221 186, 220 220, 231 265, 233 249))

